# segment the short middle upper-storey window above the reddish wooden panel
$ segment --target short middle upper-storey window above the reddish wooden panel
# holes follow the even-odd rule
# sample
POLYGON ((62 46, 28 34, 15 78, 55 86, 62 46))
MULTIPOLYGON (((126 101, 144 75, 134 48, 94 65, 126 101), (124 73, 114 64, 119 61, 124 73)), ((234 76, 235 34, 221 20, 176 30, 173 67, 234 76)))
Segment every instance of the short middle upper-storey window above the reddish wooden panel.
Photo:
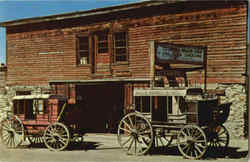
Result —
POLYGON ((97 34, 98 53, 108 53, 108 33, 97 34))

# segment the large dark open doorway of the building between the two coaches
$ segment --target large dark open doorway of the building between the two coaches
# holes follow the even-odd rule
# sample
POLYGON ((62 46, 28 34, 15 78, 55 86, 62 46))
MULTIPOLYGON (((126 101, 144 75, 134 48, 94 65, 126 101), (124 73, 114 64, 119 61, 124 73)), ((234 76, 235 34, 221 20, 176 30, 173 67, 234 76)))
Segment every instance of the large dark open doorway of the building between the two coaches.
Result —
POLYGON ((123 115, 122 84, 77 85, 76 96, 84 109, 83 125, 88 133, 116 133, 123 115))

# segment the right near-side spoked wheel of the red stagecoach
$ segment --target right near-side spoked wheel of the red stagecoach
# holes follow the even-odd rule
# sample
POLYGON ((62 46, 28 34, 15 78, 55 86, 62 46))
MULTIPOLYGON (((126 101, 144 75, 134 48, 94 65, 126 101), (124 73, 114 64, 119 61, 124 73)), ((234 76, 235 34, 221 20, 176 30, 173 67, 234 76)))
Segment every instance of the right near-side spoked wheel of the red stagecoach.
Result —
POLYGON ((69 130, 62 123, 53 123, 46 128, 43 139, 48 149, 52 151, 61 151, 69 144, 69 130))

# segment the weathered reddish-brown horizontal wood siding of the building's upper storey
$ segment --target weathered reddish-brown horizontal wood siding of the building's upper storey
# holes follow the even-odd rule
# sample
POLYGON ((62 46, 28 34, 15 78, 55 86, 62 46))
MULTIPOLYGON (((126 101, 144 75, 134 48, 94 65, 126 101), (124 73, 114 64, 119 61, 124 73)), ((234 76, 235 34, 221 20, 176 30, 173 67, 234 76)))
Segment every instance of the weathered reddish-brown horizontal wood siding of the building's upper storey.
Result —
MULTIPOLYGON (((246 26, 246 4, 214 1, 141 7, 103 17, 9 27, 8 84, 47 85, 50 80, 149 78, 150 40, 206 46, 208 83, 243 83, 246 26), (111 64, 111 75, 93 76, 91 65, 76 64, 76 35, 107 29, 110 32, 128 31, 129 60, 124 64, 111 64, 110 57, 97 60, 104 62, 104 66, 111 64)), ((98 68, 102 69, 100 63, 98 68)), ((202 74, 191 75, 200 78, 202 74)))

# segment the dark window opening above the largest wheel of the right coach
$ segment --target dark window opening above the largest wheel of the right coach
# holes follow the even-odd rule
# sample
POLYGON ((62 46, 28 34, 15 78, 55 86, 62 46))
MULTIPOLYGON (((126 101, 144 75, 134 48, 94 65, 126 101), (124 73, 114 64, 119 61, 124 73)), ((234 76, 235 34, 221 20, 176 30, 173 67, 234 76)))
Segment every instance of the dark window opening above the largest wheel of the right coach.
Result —
POLYGON ((140 112, 150 112, 150 97, 135 97, 136 110, 140 112))

